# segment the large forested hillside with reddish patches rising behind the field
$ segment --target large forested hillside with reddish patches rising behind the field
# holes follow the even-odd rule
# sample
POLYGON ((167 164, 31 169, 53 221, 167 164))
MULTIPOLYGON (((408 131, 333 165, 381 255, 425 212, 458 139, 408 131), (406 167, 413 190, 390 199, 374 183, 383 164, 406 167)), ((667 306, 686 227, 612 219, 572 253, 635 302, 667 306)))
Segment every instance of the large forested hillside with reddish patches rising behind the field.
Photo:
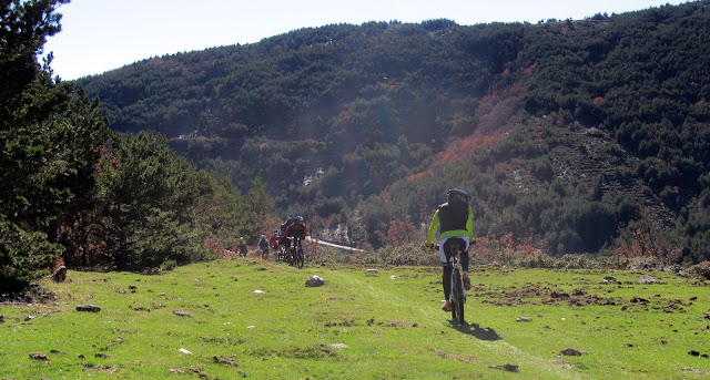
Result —
POLYGON ((162 133, 243 193, 260 174, 283 215, 355 245, 416 242, 458 186, 484 240, 693 263, 710 259, 709 27, 709 1, 338 24, 77 84, 113 131, 162 133))

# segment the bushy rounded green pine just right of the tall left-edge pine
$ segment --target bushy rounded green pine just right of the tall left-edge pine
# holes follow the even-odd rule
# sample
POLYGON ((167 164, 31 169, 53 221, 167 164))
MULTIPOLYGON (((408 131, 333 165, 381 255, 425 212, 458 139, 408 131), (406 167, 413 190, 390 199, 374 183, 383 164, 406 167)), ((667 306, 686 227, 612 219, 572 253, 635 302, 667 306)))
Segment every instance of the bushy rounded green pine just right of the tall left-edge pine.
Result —
POLYGON ((114 134, 111 142, 99 164, 92 220, 93 240, 105 245, 111 265, 142 269, 201 258, 206 233, 195 207, 210 184, 163 135, 114 134))

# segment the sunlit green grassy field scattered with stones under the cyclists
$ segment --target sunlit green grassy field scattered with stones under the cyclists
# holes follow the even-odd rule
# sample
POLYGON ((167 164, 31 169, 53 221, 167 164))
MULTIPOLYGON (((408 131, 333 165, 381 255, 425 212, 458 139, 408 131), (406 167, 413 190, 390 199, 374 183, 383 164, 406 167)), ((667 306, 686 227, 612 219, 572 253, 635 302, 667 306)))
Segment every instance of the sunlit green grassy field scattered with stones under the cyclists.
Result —
POLYGON ((70 271, 43 284, 54 301, 0 308, 0 379, 710 376, 707 281, 477 267, 469 323, 456 326, 439 309, 439 268, 377 269, 246 258, 159 276, 70 271), (326 284, 305 287, 311 275, 326 284), (101 311, 75 310, 87 304, 101 311), (491 368, 504 364, 518 371, 491 368))

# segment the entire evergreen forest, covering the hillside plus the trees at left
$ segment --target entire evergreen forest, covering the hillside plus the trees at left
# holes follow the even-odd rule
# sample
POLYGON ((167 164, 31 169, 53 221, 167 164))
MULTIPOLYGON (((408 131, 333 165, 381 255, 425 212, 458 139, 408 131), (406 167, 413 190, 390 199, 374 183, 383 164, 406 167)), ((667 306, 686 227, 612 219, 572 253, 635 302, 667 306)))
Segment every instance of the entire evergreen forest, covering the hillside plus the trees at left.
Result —
POLYGON ((206 259, 294 212, 420 244, 450 187, 498 247, 710 260, 710 1, 332 24, 63 82, 38 57, 65 2, 0 9, 6 289, 206 259))

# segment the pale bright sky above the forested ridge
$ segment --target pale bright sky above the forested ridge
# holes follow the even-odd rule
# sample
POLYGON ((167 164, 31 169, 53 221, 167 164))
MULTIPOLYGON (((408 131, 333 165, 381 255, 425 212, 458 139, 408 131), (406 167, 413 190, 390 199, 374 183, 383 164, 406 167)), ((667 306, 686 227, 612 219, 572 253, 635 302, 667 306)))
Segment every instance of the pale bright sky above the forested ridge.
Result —
POLYGON ((667 0, 73 0, 50 38, 54 74, 99 74, 155 55, 254 43, 292 30, 366 21, 458 24, 584 19, 687 1, 667 0))

